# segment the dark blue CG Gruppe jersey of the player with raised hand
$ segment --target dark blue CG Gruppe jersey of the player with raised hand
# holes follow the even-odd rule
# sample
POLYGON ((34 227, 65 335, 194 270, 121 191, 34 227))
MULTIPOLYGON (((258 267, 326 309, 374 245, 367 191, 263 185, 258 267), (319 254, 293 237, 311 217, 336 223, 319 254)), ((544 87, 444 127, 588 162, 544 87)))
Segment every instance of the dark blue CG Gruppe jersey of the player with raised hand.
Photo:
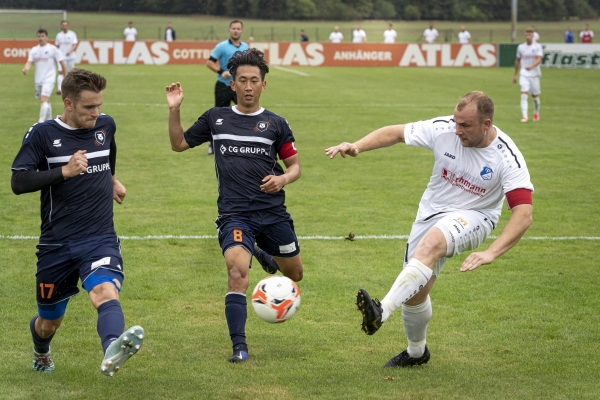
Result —
POLYGON ((206 111, 184 133, 190 147, 212 141, 219 182, 220 214, 281 209, 285 192, 268 194, 260 190, 267 175, 282 175, 277 154, 294 136, 285 118, 261 108, 242 114, 234 107, 206 111))

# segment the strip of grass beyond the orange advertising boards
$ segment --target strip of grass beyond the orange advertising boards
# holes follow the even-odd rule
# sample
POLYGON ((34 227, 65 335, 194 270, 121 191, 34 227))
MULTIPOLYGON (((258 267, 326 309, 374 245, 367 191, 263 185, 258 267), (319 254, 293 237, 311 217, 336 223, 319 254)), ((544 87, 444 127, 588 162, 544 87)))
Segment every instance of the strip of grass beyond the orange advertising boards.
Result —
MULTIPOLYGON (((229 37, 227 28, 233 18, 207 15, 148 15, 117 13, 81 13, 69 12, 71 29, 79 39, 123 39, 123 29, 128 21, 133 21, 138 30, 138 40, 162 40, 167 22, 173 23, 178 40, 225 40, 229 37)), ((0 38, 35 39, 35 32, 42 26, 48 29, 50 38, 54 39, 60 31, 62 14, 2 14, 0 13, 0 38)), ((423 30, 429 21, 269 21, 241 18, 244 22, 244 36, 247 40, 253 36, 257 41, 299 41, 300 29, 304 29, 311 41, 326 42, 333 27, 338 25, 344 34, 344 41, 352 41, 352 30, 357 23, 367 33, 367 40, 374 43, 383 42, 383 31, 388 22, 394 24, 398 32, 398 42, 423 41, 423 30)), ((543 43, 562 43, 564 33, 569 25, 576 34, 589 23, 592 31, 600 30, 599 20, 586 21, 519 21, 517 24, 519 42, 524 42, 524 31, 535 24, 543 43)), ((471 33, 472 41, 510 43, 511 23, 501 22, 461 22, 436 21, 435 27, 440 32, 440 42, 458 42, 457 34, 460 26, 466 25, 471 33)))

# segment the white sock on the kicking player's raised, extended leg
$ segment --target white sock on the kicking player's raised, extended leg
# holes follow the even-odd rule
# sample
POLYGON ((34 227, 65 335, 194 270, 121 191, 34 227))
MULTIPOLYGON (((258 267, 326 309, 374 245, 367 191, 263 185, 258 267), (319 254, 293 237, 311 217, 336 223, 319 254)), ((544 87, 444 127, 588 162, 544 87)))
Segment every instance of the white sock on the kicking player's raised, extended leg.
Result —
POLYGON ((385 321, 398 307, 423 289, 433 275, 433 270, 416 258, 411 258, 402 270, 392 288, 381 300, 383 314, 381 321, 385 321))

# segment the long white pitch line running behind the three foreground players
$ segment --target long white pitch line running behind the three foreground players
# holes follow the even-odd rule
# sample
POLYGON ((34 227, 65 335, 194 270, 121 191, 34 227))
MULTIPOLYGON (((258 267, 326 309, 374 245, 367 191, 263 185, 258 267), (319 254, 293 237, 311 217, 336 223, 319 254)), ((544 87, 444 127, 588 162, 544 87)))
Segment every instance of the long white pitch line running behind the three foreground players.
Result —
MULTIPOLYGON (((488 236, 488 239, 496 239, 498 236, 488 236)), ((0 235, 0 240, 37 240, 39 236, 21 236, 21 235, 0 235)), ((216 235, 148 235, 148 236, 119 236, 123 240, 205 240, 217 239, 216 235)), ((298 236, 299 240, 345 240, 344 236, 322 236, 309 235, 298 236)), ((402 240, 408 239, 408 235, 356 235, 356 239, 367 240, 402 240)), ((521 240, 546 240, 546 241, 564 241, 564 240, 600 240, 600 236, 525 236, 521 240)))

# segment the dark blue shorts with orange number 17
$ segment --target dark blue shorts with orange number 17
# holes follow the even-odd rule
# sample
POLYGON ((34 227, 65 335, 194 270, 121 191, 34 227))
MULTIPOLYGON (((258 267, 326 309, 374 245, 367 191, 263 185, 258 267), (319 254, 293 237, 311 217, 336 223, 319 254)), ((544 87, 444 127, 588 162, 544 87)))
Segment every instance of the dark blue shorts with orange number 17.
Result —
POLYGON ((86 290, 91 290, 93 286, 87 287, 85 280, 100 269, 123 276, 121 244, 114 235, 60 244, 40 243, 37 249, 36 297, 40 305, 56 304, 75 296, 79 293, 79 279, 86 290))

